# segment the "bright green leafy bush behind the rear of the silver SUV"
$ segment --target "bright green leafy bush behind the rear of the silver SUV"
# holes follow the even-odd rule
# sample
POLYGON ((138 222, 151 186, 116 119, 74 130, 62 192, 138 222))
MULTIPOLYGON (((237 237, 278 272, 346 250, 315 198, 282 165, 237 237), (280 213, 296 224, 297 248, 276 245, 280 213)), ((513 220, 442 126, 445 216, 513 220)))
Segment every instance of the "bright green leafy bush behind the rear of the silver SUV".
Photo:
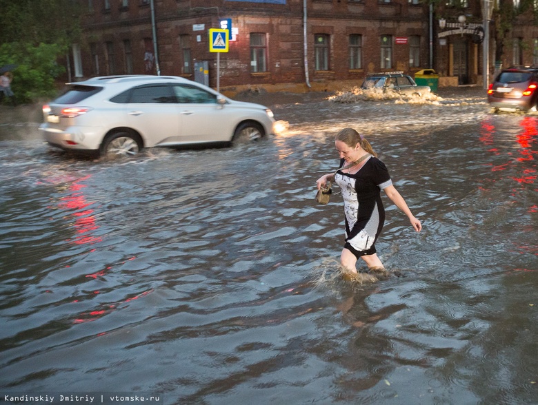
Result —
POLYGON ((65 71, 57 60, 65 47, 57 44, 3 43, 0 45, 0 67, 19 65, 13 70, 11 89, 18 103, 30 103, 56 93, 54 79, 65 71))

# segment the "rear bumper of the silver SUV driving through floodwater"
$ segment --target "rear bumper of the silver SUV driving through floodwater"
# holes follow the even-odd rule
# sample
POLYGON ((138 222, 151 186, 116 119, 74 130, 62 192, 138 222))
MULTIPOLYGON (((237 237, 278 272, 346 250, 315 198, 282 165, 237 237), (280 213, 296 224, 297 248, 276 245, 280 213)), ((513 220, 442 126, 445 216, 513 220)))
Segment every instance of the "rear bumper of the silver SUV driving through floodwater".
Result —
POLYGON ((101 145, 102 136, 95 127, 58 129, 42 124, 39 130, 47 143, 61 149, 95 151, 101 145))

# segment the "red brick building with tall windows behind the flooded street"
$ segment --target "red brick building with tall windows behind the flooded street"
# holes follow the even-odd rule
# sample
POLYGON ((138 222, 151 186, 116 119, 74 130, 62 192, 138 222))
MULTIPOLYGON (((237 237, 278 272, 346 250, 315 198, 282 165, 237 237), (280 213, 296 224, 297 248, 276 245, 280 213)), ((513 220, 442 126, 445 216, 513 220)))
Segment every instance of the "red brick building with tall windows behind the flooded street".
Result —
POLYGON ((433 67, 439 85, 481 83, 479 0, 457 7, 449 0, 442 10, 419 0, 83 1, 76 79, 149 73, 221 90, 336 90, 369 72, 433 67), (439 19, 448 21, 444 28, 439 19), (209 30, 226 20, 233 32, 228 52, 210 52, 209 30))

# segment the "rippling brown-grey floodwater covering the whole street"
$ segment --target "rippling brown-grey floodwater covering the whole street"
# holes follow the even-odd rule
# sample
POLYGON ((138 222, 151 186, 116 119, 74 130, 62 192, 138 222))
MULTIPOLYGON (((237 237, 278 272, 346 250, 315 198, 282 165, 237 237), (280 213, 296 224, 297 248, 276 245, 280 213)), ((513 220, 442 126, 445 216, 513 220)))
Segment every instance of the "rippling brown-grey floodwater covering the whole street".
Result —
POLYGON ((537 404, 538 115, 326 96, 246 96, 288 124, 256 145, 122 162, 1 125, 1 400, 537 404), (424 225, 383 197, 401 276, 375 284, 315 203, 348 126, 424 225))

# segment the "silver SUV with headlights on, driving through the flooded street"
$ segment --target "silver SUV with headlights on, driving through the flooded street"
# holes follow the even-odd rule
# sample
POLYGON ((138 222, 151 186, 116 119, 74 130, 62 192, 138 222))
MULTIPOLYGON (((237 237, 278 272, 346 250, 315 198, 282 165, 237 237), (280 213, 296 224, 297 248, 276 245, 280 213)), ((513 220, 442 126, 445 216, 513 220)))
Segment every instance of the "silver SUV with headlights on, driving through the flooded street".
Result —
POLYGON ((267 107, 181 77, 102 76, 68 85, 43 106, 39 127, 61 149, 128 156, 143 147, 244 143, 275 132, 267 107))

